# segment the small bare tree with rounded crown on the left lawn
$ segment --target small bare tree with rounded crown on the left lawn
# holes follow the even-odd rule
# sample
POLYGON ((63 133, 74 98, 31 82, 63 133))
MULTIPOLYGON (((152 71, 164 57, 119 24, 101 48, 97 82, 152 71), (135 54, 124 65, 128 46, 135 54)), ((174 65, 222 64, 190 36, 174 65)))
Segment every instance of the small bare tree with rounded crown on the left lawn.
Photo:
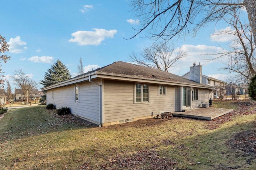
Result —
POLYGON ((25 104, 28 104, 28 98, 33 88, 36 88, 36 81, 29 78, 22 70, 15 70, 12 76, 14 84, 22 89, 25 97, 25 104))

